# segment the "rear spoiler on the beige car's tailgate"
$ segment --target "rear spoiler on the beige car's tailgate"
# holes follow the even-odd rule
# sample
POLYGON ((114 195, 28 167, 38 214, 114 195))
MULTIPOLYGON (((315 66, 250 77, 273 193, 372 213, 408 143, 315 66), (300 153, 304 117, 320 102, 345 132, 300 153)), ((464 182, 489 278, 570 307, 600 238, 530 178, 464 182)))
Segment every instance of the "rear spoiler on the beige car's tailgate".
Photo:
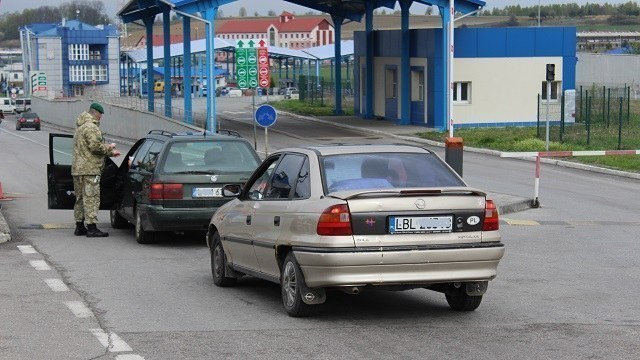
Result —
POLYGON ((448 188, 405 188, 405 189, 376 189, 376 190, 358 190, 358 191, 337 191, 327 194, 327 197, 336 199, 349 200, 359 197, 376 197, 376 196, 441 196, 441 195, 474 195, 486 197, 484 191, 470 187, 448 187, 448 188))

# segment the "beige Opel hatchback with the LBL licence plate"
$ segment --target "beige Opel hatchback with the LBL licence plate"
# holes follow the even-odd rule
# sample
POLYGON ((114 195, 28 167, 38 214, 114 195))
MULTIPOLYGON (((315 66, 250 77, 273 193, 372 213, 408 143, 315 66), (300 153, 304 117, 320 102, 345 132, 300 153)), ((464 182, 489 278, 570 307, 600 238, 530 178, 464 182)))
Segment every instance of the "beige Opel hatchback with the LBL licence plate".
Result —
POLYGON ((213 281, 280 283, 291 316, 327 288, 442 292, 475 310, 504 254, 498 210, 433 152, 407 145, 289 148, 271 154, 211 218, 213 281))

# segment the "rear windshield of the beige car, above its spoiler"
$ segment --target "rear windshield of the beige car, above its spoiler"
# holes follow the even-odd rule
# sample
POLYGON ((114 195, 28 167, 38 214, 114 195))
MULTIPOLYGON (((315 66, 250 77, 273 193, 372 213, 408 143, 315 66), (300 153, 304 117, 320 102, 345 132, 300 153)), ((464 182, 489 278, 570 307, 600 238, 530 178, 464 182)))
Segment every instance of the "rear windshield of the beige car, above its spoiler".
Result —
POLYGON ((322 158, 327 193, 343 190, 465 186, 433 153, 342 154, 322 158))

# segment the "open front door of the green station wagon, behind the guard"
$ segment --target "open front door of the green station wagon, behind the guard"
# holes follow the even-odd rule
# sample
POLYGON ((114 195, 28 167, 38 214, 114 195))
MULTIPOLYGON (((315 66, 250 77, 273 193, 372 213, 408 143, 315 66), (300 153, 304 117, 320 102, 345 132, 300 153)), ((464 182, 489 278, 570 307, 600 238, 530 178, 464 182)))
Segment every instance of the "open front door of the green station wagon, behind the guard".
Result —
MULTIPOLYGON (((47 204, 49 209, 72 210, 76 202, 71 176, 73 135, 49 134, 49 164, 47 164, 47 204)), ((109 210, 115 198, 118 165, 105 157, 100 177, 100 209, 109 210)))

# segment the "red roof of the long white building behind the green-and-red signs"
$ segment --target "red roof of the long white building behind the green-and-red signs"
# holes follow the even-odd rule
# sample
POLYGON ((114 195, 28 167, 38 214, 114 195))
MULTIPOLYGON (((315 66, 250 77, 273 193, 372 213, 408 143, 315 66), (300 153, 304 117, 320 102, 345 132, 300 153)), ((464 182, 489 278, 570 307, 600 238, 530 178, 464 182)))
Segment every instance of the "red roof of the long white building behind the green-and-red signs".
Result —
POLYGON ((326 21, 322 17, 295 18, 281 23, 274 19, 237 19, 227 20, 218 29, 217 34, 238 33, 266 33, 269 26, 273 25, 280 32, 311 31, 321 22, 326 21))

